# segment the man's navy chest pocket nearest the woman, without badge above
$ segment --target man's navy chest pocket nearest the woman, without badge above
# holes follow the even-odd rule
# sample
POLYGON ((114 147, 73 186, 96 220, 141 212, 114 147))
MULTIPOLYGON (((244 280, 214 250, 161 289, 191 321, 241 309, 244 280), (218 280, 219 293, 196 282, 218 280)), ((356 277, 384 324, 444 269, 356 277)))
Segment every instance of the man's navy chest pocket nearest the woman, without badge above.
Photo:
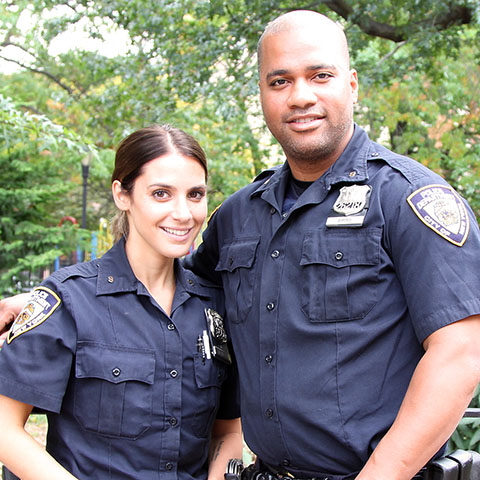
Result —
POLYGON ((253 301, 253 264, 260 236, 235 239, 222 247, 216 271, 222 273, 228 320, 245 320, 253 301))

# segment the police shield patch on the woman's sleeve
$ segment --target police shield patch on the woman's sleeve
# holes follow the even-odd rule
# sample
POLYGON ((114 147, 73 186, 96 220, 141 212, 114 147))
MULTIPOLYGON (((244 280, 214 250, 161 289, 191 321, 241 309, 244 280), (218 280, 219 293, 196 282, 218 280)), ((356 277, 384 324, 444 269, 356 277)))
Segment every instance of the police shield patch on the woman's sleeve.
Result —
POLYGON ((22 335, 22 333, 38 327, 55 311, 60 302, 57 294, 49 288, 37 287, 32 292, 28 303, 15 319, 8 334, 7 343, 10 343, 14 338, 22 335))

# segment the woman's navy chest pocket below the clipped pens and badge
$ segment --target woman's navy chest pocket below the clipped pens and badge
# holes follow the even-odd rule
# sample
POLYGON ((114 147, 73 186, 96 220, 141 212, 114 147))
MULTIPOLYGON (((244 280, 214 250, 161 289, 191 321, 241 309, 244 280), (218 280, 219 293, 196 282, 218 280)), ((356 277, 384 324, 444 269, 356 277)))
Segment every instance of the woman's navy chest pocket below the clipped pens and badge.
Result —
POLYGON ((210 434, 220 403, 222 383, 226 378, 226 367, 216 360, 205 360, 200 355, 194 357, 196 399, 193 431, 197 437, 210 434))

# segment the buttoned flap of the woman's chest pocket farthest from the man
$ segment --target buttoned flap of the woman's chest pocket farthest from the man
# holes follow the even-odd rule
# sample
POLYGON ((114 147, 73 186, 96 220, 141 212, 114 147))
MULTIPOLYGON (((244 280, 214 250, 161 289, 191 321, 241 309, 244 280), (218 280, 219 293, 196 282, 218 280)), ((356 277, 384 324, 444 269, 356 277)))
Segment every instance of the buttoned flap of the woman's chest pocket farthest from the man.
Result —
POLYGON ((99 378, 111 383, 137 381, 152 385, 155 355, 151 350, 79 342, 75 360, 77 378, 99 378))

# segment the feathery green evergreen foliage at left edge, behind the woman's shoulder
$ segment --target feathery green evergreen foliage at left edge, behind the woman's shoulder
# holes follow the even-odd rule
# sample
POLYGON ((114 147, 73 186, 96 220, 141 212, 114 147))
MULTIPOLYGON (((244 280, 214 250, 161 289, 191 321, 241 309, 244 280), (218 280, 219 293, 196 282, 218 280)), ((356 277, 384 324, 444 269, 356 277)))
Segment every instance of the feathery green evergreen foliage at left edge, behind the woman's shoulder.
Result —
POLYGON ((0 95, 0 292, 12 278, 50 265, 76 247, 78 229, 59 228, 73 188, 61 174, 84 154, 75 135, 46 117, 24 114, 0 95))

